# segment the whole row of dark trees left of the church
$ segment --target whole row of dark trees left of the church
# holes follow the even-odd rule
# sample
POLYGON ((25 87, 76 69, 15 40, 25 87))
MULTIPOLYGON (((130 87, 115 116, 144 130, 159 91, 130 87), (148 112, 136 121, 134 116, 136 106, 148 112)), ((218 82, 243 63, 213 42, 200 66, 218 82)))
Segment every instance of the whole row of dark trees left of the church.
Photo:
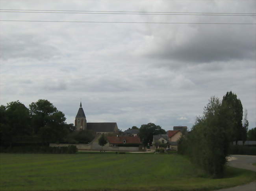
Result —
POLYGON ((88 143, 91 131, 74 131, 63 112, 48 100, 39 99, 27 108, 19 100, 0 106, 1 146, 13 144, 88 143))

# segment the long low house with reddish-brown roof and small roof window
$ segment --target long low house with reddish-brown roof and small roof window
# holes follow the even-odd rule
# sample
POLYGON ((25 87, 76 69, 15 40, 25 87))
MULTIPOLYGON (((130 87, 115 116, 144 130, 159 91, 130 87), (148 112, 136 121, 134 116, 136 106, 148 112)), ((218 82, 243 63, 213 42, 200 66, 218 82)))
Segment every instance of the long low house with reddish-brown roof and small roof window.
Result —
POLYGON ((139 136, 108 136, 109 147, 139 147, 142 146, 139 136))

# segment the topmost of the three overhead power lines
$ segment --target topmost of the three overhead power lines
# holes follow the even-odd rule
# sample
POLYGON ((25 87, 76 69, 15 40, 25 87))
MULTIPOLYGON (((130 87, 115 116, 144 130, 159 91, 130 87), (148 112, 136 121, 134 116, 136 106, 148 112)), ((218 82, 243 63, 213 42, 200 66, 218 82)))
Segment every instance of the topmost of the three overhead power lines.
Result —
POLYGON ((199 13, 199 12, 149 12, 149 11, 77 11, 77 10, 36 10, 36 9, 0 9, 2 11, 67 11, 67 12, 112 12, 112 13, 181 13, 181 14, 241 14, 255 15, 256 13, 199 13))

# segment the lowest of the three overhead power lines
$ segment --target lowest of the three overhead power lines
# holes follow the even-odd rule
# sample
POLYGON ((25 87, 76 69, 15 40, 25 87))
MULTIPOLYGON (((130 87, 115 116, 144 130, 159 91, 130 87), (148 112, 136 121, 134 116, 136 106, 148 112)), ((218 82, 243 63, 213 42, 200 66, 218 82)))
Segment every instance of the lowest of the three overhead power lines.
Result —
POLYGON ((192 22, 111 22, 111 21, 58 21, 58 20, 0 20, 7 22, 70 22, 70 23, 126 23, 126 24, 222 24, 222 25, 256 25, 256 23, 192 23, 192 22))

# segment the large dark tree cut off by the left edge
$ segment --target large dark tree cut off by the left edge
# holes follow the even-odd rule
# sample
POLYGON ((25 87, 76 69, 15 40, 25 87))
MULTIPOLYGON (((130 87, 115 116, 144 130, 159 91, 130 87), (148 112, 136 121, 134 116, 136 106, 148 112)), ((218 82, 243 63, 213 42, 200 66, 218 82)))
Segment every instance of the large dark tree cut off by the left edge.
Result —
POLYGON ((19 141, 24 136, 30 135, 30 113, 24 104, 19 100, 7 103, 7 106, 0 107, 1 122, 0 133, 1 141, 9 143, 19 141))

